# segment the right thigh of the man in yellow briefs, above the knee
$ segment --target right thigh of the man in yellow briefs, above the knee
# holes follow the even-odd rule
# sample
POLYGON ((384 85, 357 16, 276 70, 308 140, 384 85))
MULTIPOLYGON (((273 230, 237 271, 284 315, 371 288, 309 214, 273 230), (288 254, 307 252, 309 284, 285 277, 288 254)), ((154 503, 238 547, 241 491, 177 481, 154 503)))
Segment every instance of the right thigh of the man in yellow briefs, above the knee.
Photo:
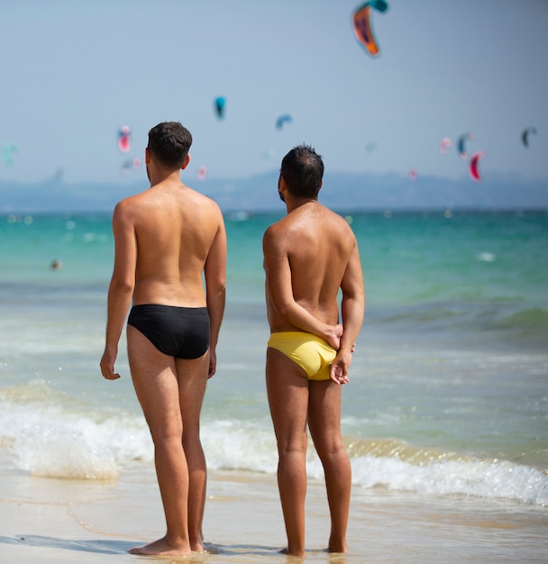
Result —
POLYGON ((332 380, 310 382, 308 426, 318 452, 330 450, 342 441, 341 388, 332 380))

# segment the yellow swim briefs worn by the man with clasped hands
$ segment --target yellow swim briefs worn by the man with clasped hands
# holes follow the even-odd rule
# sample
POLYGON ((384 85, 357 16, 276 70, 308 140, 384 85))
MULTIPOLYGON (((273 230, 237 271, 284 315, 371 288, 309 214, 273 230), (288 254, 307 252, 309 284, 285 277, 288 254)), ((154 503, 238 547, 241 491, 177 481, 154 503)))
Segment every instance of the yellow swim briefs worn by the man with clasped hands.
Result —
POLYGON ((312 333, 284 331, 270 333, 268 345, 283 352, 303 368, 309 380, 328 380, 337 351, 312 333))

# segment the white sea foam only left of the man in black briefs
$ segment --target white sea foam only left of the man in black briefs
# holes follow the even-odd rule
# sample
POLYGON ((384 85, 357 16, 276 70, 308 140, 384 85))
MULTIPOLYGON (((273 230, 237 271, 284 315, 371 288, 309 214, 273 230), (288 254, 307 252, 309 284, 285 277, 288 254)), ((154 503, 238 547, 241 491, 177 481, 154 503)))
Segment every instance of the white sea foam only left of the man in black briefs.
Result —
POLYGON ((6 396, 0 398, 0 448, 33 475, 109 479, 123 461, 151 459, 142 417, 82 411, 37 381, 6 396))

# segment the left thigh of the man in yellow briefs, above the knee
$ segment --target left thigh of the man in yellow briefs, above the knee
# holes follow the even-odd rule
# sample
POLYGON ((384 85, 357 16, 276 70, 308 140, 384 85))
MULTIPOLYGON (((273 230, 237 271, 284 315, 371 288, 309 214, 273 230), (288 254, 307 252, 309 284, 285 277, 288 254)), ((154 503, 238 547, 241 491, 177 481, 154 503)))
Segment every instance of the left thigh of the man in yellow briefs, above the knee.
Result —
POLYGON ((302 374, 303 369, 282 352, 267 349, 267 394, 280 446, 306 442, 308 380, 302 374))

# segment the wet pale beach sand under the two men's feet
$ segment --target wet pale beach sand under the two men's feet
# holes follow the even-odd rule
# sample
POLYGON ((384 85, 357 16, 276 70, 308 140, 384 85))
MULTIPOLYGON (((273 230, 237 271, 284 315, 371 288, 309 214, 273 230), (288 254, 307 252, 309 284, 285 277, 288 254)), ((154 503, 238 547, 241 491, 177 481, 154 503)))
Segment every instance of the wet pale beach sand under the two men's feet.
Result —
MULTIPOLYGON (((1 564, 301 561, 278 552, 285 532, 276 478, 251 472, 209 473, 204 531, 211 554, 161 559, 127 554, 132 546, 164 533, 151 465, 125 468, 113 481, 4 471, 0 523, 1 564)), ((306 561, 545 562, 546 532, 543 507, 354 488, 350 551, 329 555, 323 550, 329 534, 324 485, 309 482, 306 561)))

